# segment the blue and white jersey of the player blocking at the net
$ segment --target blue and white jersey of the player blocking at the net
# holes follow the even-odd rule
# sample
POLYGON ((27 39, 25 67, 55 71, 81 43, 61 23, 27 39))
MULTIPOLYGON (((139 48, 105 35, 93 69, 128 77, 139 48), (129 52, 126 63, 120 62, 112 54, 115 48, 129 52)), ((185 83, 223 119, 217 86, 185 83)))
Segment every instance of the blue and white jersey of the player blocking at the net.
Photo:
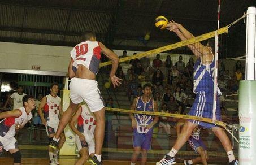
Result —
MULTIPOLYGON (((194 64, 194 89, 193 92, 198 94, 205 92, 207 94, 214 93, 214 60, 210 64, 204 65, 201 59, 198 58, 194 64)), ((221 95, 219 88, 218 95, 221 95)))

